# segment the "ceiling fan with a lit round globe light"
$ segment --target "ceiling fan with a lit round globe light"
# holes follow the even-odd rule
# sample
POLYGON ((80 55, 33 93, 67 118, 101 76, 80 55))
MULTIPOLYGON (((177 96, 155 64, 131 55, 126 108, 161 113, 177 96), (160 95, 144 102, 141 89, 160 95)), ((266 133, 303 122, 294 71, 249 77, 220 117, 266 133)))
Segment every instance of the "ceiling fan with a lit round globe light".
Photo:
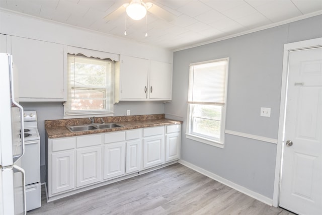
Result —
POLYGON ((150 2, 144 3, 142 0, 132 0, 130 3, 123 4, 110 14, 106 15, 104 19, 116 19, 122 13, 124 13, 124 11, 126 11, 126 14, 133 20, 140 20, 144 18, 147 11, 168 22, 171 22, 175 19, 175 16, 165 9, 150 2))

